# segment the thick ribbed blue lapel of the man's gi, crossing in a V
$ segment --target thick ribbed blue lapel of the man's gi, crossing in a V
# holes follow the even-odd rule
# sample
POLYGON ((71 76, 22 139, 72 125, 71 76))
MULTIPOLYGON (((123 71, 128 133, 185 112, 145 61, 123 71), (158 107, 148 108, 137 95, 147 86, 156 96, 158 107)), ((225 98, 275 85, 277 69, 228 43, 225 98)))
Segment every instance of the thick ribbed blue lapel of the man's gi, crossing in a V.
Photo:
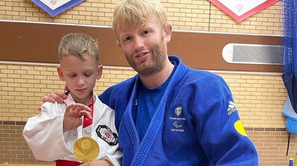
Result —
POLYGON ((169 60, 176 61, 178 66, 164 92, 164 95, 159 103, 159 106, 157 107, 157 110, 151 120, 149 128, 147 129, 141 144, 139 144, 139 137, 132 119, 132 111, 131 111, 132 104, 134 104, 134 99, 137 92, 137 85, 139 82, 139 76, 137 75, 137 80, 133 88, 132 96, 130 98, 127 109, 124 113, 125 125, 127 127, 130 139, 132 140, 134 154, 135 154, 131 165, 143 165, 155 139, 160 133, 159 130, 162 130, 164 109, 165 109, 168 95, 170 94, 171 89, 176 84, 176 82, 178 82, 184 76, 184 73, 189 69, 189 67, 184 66, 181 59, 177 56, 169 56, 169 60))

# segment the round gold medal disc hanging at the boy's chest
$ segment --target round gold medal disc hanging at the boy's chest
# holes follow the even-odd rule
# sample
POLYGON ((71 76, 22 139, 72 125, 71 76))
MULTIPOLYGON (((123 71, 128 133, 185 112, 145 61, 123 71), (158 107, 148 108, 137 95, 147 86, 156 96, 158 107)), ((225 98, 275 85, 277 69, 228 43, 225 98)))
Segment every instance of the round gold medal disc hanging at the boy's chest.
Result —
POLYGON ((98 157, 99 146, 94 139, 82 137, 75 141, 73 153, 80 162, 91 162, 98 157))

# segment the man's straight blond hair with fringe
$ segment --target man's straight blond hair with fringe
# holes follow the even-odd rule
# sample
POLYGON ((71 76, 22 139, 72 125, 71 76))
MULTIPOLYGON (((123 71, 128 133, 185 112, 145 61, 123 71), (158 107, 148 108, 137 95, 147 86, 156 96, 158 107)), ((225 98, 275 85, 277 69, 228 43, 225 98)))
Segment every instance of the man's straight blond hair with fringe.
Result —
POLYGON ((158 19, 161 28, 167 25, 167 16, 159 0, 122 0, 113 12, 113 31, 116 34, 119 26, 121 30, 127 30, 144 25, 151 16, 158 19))

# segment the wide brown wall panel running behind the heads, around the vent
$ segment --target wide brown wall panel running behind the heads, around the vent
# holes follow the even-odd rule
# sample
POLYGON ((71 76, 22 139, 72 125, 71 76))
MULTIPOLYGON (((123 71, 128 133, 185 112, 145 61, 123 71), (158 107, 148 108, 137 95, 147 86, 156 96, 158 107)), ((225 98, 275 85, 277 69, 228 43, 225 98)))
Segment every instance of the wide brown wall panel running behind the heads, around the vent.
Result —
MULTIPOLYGON (((71 32, 86 33, 99 42, 100 63, 129 66, 111 28, 72 25, 0 22, 2 61, 59 63, 61 37, 71 32)), ((279 65, 229 64, 222 58, 228 43, 281 45, 281 38, 263 35, 173 32, 168 54, 180 56, 192 68, 205 70, 281 72, 279 65)))

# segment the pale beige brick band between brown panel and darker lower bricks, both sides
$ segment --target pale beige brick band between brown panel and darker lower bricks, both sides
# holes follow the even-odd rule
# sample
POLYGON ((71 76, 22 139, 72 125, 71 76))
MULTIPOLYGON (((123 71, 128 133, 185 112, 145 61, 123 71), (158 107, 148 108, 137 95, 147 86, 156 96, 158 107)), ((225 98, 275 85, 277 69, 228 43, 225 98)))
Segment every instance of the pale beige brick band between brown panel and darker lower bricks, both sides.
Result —
MULTIPOLYGON (((42 97, 64 89, 55 66, 0 64, 0 121, 27 121, 38 113, 42 97)), ((134 70, 103 70, 94 92, 135 75, 134 70)), ((280 75, 220 74, 228 83, 244 127, 285 128, 281 111, 287 91, 280 75)))

